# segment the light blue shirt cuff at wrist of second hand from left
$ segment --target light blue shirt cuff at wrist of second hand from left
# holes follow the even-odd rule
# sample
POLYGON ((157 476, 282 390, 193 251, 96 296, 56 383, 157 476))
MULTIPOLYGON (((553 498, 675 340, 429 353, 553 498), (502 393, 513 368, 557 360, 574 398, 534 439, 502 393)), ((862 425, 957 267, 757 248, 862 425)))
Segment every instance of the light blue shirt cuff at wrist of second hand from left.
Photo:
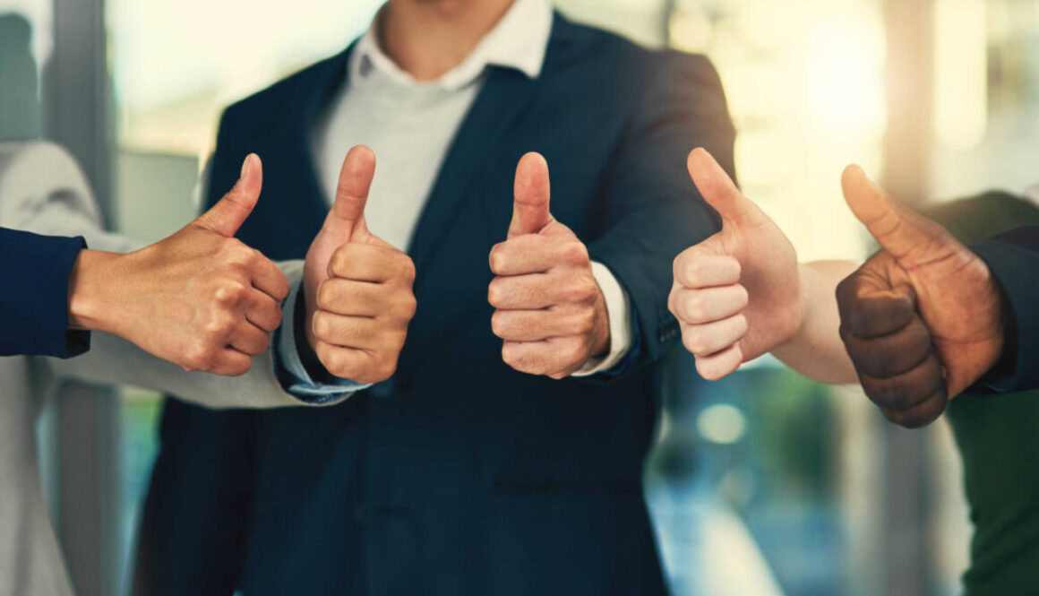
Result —
MULTIPOLYGON (((303 366, 296 341, 299 327, 296 325, 296 303, 302 293, 302 286, 300 282, 289 291, 289 297, 282 305, 282 327, 275 333, 274 345, 277 352, 275 361, 278 363, 276 368, 282 388, 300 401, 320 405, 342 399, 354 391, 371 387, 370 383, 357 383, 331 375, 320 383, 311 378, 307 367, 303 366)), ((299 332, 303 333, 302 330, 299 332)))

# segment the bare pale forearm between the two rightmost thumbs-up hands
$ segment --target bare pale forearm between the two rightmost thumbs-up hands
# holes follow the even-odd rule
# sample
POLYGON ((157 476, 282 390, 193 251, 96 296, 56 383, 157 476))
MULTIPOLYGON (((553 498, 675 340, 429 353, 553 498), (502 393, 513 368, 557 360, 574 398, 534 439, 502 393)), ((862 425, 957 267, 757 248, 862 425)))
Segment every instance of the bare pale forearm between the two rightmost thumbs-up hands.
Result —
POLYGON ((834 292, 841 280, 851 275, 852 261, 801 263, 801 329, 794 339, 774 348, 772 355, 801 374, 820 383, 857 383, 858 377, 844 342, 834 292))

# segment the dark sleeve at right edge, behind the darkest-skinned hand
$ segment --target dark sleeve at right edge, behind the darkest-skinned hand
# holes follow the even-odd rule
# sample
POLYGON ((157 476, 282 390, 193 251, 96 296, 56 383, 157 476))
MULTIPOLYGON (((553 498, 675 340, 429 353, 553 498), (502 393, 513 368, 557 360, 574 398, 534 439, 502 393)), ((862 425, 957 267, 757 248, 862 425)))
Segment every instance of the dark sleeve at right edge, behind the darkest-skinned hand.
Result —
POLYGON ((1018 228, 971 247, 1000 282, 1007 306, 1003 357, 981 385, 996 391, 1039 387, 1039 227, 1018 228))

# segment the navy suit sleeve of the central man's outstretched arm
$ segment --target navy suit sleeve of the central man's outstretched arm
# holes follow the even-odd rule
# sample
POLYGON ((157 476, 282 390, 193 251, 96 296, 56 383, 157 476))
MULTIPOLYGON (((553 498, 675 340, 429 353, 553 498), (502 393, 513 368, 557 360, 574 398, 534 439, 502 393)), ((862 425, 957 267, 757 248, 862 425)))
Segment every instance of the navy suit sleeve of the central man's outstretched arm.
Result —
POLYGON ((608 170, 604 233, 588 245, 631 297, 634 353, 622 366, 652 361, 680 338, 667 309, 671 263, 720 229, 686 169, 703 147, 735 178, 729 119, 721 81, 702 56, 658 55, 642 101, 608 170))

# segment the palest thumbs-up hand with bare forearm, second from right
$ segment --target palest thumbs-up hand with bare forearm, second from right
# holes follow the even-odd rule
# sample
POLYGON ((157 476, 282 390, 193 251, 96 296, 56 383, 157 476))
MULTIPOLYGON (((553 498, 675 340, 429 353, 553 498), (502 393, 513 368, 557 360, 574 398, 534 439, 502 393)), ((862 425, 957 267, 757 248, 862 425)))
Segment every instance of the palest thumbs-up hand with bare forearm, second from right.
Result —
POLYGON ((688 165, 722 229, 674 259, 668 308, 697 371, 716 381, 797 335, 800 275, 794 245, 711 154, 696 149, 688 165))

